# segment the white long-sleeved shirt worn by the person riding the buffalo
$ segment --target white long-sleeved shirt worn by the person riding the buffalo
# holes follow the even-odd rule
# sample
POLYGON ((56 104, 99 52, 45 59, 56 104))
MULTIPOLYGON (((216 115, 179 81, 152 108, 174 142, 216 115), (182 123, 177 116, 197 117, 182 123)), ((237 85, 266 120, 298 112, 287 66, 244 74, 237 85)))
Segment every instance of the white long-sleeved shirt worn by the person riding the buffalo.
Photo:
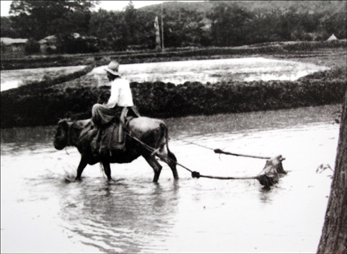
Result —
POLYGON ((111 95, 107 105, 108 108, 113 108, 115 105, 119 107, 132 107, 134 105, 129 81, 124 78, 116 78, 111 82, 111 95))

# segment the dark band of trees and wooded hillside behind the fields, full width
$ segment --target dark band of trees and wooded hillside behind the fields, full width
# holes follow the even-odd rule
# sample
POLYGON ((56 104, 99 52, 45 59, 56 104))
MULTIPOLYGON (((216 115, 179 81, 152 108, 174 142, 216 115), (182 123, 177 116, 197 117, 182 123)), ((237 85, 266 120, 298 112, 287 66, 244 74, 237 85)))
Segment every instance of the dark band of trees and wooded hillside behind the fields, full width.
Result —
MULTIPOLYGON (((12 1, 12 15, 1 17, 1 37, 28 38, 35 44, 56 35, 60 53, 155 49, 154 19, 159 17, 160 26, 163 21, 165 47, 320 41, 332 33, 346 39, 346 3, 339 2, 345 8, 318 11, 301 6, 283 9, 271 4, 252 9, 242 1, 205 1, 189 6, 166 2, 162 10, 160 4, 135 9, 130 1, 124 10, 111 11, 93 10, 99 1, 12 1), (81 37, 74 38, 72 33, 81 37)), ((337 3, 324 4, 323 7, 339 7, 337 3)))

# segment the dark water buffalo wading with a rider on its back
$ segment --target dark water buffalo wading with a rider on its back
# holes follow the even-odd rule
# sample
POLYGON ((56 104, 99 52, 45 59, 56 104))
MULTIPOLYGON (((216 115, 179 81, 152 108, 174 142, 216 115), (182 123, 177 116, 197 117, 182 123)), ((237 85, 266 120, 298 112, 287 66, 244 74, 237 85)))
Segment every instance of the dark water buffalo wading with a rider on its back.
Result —
POLYGON ((164 121, 149 117, 130 119, 126 126, 126 131, 130 133, 131 137, 126 135, 125 149, 113 150, 111 153, 103 155, 95 155, 92 151, 92 141, 96 138, 96 135, 92 135, 92 130, 82 133, 91 124, 90 119, 80 121, 62 119, 58 122, 58 128, 53 141, 54 147, 62 150, 65 146, 76 146, 81 153, 81 161, 78 164, 75 180, 81 180, 81 174, 87 164, 93 165, 97 162, 101 162, 108 180, 111 180, 110 163, 129 163, 142 156, 153 168, 153 182, 156 183, 158 182, 162 166, 156 160, 155 154, 169 165, 174 174, 174 179, 178 179, 177 160, 174 153, 169 151, 168 130, 164 121))

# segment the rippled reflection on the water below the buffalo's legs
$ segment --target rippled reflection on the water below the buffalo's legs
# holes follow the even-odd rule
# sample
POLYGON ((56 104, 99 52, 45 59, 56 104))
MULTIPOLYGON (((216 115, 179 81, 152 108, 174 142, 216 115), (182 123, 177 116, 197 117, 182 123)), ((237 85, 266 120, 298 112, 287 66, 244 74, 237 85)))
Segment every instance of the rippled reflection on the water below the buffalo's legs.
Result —
MULTIPOLYGON (((170 237, 178 183, 162 187, 122 182, 85 180, 62 189, 62 214, 70 221, 69 229, 90 239, 88 244, 98 242, 97 247, 107 253, 138 253, 153 240, 170 237)), ((147 251, 160 251, 160 246, 147 251)))

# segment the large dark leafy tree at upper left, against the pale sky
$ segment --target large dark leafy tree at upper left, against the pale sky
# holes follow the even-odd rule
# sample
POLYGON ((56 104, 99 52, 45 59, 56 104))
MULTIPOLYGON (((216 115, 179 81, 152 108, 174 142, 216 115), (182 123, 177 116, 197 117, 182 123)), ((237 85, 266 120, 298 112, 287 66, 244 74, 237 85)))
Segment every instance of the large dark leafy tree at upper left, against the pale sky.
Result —
POLYGON ((10 14, 13 26, 21 37, 40 40, 57 33, 87 32, 90 8, 99 1, 12 1, 10 14), (78 14, 78 20, 71 18, 78 14), (81 17, 85 16, 85 17, 81 17))

